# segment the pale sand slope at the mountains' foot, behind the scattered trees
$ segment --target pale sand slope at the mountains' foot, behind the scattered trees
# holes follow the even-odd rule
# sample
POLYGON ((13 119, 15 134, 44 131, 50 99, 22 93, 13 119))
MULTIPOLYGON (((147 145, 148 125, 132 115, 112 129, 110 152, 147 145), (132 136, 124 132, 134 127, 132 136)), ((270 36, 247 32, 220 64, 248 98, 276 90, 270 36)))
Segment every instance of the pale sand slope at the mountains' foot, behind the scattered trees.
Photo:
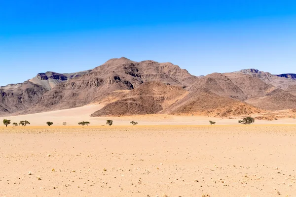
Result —
MULTIPOLYGON (((92 113, 101 109, 104 105, 92 104, 72 109, 28 114, 20 116, 0 117, 11 120, 11 123, 19 123, 27 120, 31 126, 46 126, 46 122, 54 123, 54 126, 62 126, 67 122, 69 126, 76 126, 78 122, 89 121, 93 126, 105 125, 106 120, 113 120, 114 125, 130 125, 131 121, 136 121, 139 125, 209 125, 209 120, 216 121, 217 125, 237 125, 238 119, 220 119, 204 116, 173 116, 173 115, 138 115, 125 117, 90 117, 92 113)), ((254 116, 255 117, 255 116, 254 116)), ((287 118, 275 121, 259 121, 255 124, 296 124, 296 119, 287 118)), ((1 124, 0 124, 1 125, 1 124)))

